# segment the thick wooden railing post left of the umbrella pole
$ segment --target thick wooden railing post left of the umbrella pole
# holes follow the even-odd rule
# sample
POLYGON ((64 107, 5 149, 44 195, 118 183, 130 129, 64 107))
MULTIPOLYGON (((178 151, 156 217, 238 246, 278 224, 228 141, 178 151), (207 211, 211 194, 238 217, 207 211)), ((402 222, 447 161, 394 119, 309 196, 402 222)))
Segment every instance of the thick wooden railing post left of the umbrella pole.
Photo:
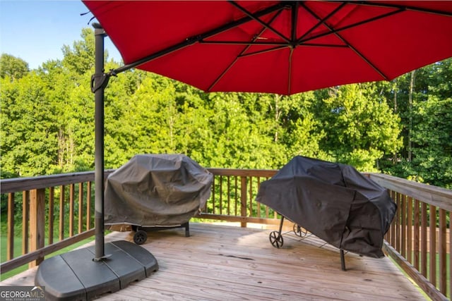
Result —
MULTIPOLYGON (((30 252, 44 247, 45 189, 30 190, 30 252)), ((39 265, 44 257, 30 262, 29 268, 39 265)))

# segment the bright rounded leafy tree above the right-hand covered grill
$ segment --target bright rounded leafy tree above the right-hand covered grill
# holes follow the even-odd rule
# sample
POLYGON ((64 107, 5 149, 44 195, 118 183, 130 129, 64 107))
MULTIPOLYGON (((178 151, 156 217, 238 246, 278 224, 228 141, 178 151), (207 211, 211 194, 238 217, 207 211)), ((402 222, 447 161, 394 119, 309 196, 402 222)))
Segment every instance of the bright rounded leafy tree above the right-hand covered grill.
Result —
POLYGON ((325 131, 320 145, 331 161, 376 171, 378 159, 401 147, 398 116, 376 87, 344 85, 317 104, 316 118, 325 131))

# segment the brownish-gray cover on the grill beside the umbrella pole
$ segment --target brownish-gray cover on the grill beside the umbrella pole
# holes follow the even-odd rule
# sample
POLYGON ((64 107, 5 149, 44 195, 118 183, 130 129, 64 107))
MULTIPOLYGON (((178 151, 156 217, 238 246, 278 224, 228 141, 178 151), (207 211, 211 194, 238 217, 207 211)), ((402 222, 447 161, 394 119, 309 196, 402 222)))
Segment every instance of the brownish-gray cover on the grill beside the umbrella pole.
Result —
POLYGON ((140 154, 111 173, 105 224, 176 226, 210 197, 213 174, 182 154, 140 154))

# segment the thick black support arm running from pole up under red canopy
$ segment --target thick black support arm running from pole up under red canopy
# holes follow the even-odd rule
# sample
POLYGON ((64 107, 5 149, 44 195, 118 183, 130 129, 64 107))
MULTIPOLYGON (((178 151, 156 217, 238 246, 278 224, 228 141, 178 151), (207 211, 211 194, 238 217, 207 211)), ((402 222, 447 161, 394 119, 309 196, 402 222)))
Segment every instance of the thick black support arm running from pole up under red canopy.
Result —
POLYGON ((113 74, 118 74, 121 72, 124 72, 126 70, 129 70, 131 68, 135 68, 136 66, 143 65, 143 63, 148 63, 150 61, 153 61, 155 59, 158 59, 162 56, 165 56, 167 54, 170 54, 174 51, 177 51, 179 49, 182 49, 184 47, 190 46, 191 44, 195 44, 196 42, 202 41, 203 39, 207 39, 208 37, 212 37, 214 35, 218 35, 220 32, 225 32, 226 30, 230 30, 231 28, 237 27, 239 25, 242 25, 244 23, 247 23, 251 20, 254 20, 255 18, 258 18, 260 16, 267 15, 268 13, 273 13, 274 11, 280 11, 281 8, 284 8, 286 6, 285 3, 278 3, 274 6, 269 6, 268 8, 264 8, 262 11, 258 11, 254 13, 254 16, 245 16, 243 18, 240 18, 239 20, 234 20, 231 23, 227 23, 225 25, 221 25, 220 27, 214 28, 213 30, 209 30, 208 32, 204 32, 200 35, 197 35, 196 37, 191 37, 184 39, 183 42, 180 42, 179 44, 174 44, 170 47, 167 47, 165 49, 162 49, 160 51, 157 51, 153 54, 150 54, 148 56, 143 57, 142 59, 138 59, 132 63, 129 63, 127 65, 121 66, 119 68, 116 68, 114 70, 111 70, 110 72, 113 74))

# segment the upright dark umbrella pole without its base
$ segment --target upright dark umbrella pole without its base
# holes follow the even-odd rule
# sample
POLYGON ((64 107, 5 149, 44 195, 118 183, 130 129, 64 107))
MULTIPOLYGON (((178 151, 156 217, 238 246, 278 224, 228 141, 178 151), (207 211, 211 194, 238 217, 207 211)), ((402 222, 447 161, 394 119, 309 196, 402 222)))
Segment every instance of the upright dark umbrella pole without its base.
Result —
POLYGON ((107 75, 104 73, 105 31, 98 23, 95 28, 95 75, 91 78, 91 90, 95 93, 95 257, 105 257, 104 246, 104 90, 107 75))

